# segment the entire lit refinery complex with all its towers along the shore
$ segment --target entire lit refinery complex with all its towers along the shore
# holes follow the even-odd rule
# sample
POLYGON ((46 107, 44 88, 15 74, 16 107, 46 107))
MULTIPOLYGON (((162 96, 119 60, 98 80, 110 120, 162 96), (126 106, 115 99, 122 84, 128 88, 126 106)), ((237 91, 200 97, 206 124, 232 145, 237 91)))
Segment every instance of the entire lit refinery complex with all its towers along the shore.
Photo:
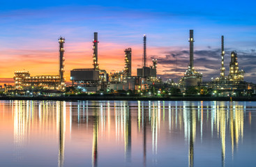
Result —
POLYGON ((172 96, 172 95, 211 95, 220 97, 248 96, 255 94, 255 84, 243 81, 245 72, 239 70, 238 54, 232 51, 230 55, 229 74, 225 74, 224 36, 221 36, 220 76, 211 81, 202 81, 203 74, 194 66, 194 34, 189 31, 189 63, 184 76, 174 83, 163 82, 157 77, 157 59, 152 65, 147 63, 146 35, 143 36, 142 67, 137 68, 137 75, 132 75, 132 48, 123 50, 124 67, 117 72, 107 73, 98 63, 98 33, 93 34, 93 56, 91 68, 75 68, 70 71, 70 86, 66 86, 64 78, 64 47, 65 38, 59 38, 59 75, 37 75, 31 77, 29 71, 15 71, 15 86, 6 87, 6 93, 36 93, 51 92, 50 95, 65 95, 70 93, 86 94, 118 94, 131 93, 140 96, 172 96))

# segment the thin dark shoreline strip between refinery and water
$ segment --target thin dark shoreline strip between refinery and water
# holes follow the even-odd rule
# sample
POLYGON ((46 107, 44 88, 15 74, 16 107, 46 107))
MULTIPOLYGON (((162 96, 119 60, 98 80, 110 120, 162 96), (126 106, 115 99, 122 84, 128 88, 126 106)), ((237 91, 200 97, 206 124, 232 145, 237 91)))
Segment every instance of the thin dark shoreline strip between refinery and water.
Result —
MULTIPOLYGON (((63 96, 63 97, 0 97, 0 100, 53 100, 53 101, 77 101, 77 100, 129 100, 129 101, 230 101, 230 97, 105 97, 105 96, 63 96)), ((256 101, 256 97, 232 97, 232 101, 256 101)))

